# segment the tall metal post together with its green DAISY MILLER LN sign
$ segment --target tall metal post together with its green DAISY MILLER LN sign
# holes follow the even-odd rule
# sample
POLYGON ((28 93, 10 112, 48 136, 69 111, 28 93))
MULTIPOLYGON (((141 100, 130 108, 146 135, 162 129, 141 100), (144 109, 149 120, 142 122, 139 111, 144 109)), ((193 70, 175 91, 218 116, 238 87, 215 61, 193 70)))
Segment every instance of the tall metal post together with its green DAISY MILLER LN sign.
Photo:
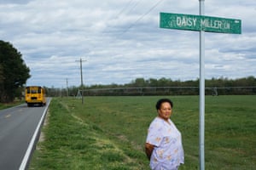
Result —
POLYGON ((160 13, 160 28, 200 32, 200 169, 205 169, 205 31, 241 34, 241 20, 205 16, 205 0, 199 0, 200 15, 160 13))

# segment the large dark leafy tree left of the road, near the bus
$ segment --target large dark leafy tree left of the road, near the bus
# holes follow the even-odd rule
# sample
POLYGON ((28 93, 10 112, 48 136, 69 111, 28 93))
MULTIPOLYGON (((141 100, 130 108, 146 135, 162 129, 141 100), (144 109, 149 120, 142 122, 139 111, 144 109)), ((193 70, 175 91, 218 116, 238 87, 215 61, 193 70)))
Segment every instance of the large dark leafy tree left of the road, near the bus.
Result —
POLYGON ((11 102, 30 77, 22 55, 9 42, 0 41, 0 102, 11 102))

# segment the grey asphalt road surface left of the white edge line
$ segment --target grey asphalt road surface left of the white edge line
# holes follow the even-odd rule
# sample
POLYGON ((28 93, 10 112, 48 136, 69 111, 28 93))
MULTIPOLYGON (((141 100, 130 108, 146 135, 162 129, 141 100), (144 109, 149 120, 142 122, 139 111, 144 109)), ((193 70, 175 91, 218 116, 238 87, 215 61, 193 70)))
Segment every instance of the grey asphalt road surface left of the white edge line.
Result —
POLYGON ((46 108, 46 106, 27 107, 24 104, 0 111, 1 170, 19 169, 46 108))

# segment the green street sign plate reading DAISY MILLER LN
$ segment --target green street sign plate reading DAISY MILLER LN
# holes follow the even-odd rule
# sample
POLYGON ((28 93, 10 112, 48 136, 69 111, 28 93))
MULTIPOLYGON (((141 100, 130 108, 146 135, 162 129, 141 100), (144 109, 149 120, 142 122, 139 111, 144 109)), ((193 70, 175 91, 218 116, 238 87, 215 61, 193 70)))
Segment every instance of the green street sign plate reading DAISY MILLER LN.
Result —
POLYGON ((241 20, 204 15, 160 13, 160 28, 241 34, 241 20))

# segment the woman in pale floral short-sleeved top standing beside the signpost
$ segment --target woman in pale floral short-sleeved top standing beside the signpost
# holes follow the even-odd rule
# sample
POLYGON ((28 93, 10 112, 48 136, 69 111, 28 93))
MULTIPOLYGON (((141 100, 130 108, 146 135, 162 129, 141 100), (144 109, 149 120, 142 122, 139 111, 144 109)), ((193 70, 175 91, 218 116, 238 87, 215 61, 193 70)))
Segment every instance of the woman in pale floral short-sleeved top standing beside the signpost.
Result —
POLYGON ((172 106, 170 99, 158 100, 158 116, 148 128, 145 152, 153 170, 176 170, 184 163, 181 133, 170 119, 172 106))

